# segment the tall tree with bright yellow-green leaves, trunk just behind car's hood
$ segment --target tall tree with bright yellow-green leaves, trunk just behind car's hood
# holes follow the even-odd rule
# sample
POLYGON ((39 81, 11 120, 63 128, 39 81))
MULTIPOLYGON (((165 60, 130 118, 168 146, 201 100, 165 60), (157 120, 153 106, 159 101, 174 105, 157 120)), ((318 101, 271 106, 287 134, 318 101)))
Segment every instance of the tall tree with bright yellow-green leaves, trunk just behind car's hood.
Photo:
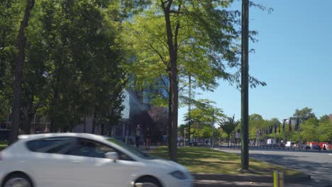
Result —
MULTIPOLYGON (((147 84, 156 77, 168 77, 170 113, 170 157, 177 159, 177 110, 179 91, 189 76, 202 89, 218 86, 216 79, 239 82, 239 74, 226 67, 239 67, 238 11, 230 11, 233 1, 150 1, 144 11, 133 16, 126 28, 127 47, 136 64, 130 69, 136 83, 147 84), (181 84, 183 84, 181 86, 181 84)), ((253 84, 263 84, 250 79, 253 84)))

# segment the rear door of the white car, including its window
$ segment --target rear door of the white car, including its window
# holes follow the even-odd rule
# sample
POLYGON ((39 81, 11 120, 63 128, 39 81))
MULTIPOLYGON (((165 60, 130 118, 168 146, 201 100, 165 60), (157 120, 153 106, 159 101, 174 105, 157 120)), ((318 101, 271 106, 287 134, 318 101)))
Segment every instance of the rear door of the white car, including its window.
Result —
POLYGON ((61 151, 74 143, 74 137, 48 137, 27 142, 31 150, 26 162, 31 166, 36 186, 70 186, 72 168, 61 151))

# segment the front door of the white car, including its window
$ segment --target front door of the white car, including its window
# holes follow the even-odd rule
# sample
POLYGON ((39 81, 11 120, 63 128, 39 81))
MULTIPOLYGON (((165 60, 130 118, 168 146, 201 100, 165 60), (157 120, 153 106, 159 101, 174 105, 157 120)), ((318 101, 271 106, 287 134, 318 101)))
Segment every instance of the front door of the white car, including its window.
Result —
POLYGON ((74 169, 72 176, 77 181, 74 186, 129 186, 131 176, 143 166, 109 145, 84 138, 78 138, 66 154, 74 169), (120 158, 106 159, 106 152, 118 152, 120 158))

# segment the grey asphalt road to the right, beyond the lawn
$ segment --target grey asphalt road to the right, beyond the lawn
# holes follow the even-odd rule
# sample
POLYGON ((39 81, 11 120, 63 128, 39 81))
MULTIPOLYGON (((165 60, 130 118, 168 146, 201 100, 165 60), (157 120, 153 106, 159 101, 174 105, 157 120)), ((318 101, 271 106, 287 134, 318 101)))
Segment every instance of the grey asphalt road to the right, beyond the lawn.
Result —
MULTIPOLYGON (((221 151, 240 154, 240 149, 221 148, 221 151)), ((280 149, 250 149, 249 157, 297 169, 311 175, 317 184, 332 185, 332 153, 306 152, 280 149)))

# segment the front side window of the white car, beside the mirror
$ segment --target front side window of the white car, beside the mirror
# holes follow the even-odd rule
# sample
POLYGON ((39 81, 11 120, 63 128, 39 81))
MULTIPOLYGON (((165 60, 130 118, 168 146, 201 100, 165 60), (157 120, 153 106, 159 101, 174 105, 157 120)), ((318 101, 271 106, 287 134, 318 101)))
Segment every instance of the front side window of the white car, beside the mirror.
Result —
POLYGON ((66 154, 80 157, 105 158, 106 152, 118 152, 119 159, 132 160, 130 157, 126 156, 126 154, 123 154, 108 145, 83 138, 78 138, 73 147, 68 150, 66 154))

